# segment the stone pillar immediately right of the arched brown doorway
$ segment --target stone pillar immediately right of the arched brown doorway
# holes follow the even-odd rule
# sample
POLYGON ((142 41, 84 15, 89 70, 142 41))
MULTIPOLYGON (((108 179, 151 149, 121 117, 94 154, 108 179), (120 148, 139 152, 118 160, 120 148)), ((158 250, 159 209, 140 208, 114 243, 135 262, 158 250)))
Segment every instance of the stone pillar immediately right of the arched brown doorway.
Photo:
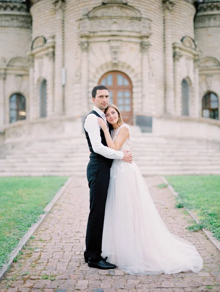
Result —
POLYGON ((141 74, 142 74, 142 109, 145 114, 151 114, 151 101, 149 95, 149 47, 148 41, 142 41, 140 43, 141 51, 141 74))

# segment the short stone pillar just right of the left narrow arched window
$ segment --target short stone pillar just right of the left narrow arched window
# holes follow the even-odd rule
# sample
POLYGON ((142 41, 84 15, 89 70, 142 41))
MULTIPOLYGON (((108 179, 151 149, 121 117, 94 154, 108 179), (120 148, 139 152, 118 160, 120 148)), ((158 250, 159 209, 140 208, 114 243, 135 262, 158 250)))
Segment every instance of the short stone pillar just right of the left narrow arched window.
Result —
MULTIPOLYGON (((53 115, 54 110, 54 51, 46 54, 48 58, 48 77, 47 77, 47 117, 53 115)), ((62 96, 60 96, 62 100, 62 96)))

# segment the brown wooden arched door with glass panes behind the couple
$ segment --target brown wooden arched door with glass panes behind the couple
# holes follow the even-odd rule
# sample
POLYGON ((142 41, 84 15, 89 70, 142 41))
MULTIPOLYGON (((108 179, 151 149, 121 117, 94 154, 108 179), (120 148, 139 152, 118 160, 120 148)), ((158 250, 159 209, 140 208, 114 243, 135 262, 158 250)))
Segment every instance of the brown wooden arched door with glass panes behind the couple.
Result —
POLYGON ((124 122, 132 124, 132 83, 130 78, 120 71, 112 71, 104 74, 99 84, 109 89, 109 103, 117 105, 124 122))

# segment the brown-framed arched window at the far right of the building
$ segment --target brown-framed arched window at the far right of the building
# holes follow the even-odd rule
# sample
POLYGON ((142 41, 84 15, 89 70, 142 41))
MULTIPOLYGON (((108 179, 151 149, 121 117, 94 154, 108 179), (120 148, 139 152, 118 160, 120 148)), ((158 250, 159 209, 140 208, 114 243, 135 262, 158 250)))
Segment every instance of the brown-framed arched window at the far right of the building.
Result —
POLYGON ((219 99, 215 93, 209 92, 203 96, 202 116, 204 118, 219 119, 219 99))

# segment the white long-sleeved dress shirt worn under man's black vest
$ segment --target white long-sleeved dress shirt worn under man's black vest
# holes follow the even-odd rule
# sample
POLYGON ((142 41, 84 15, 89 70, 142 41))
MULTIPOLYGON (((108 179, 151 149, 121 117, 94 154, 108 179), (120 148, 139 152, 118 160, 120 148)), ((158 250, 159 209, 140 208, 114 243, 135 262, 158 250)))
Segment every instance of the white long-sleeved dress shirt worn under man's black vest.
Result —
MULTIPOLYGON (((107 123, 106 117, 103 111, 94 107, 95 110, 102 119, 107 123)), ((98 123, 97 116, 93 113, 87 115, 84 123, 84 128, 89 135, 90 142, 92 144, 92 148, 94 152, 110 159, 123 159, 124 154, 122 151, 117 151, 107 146, 104 146, 101 143, 101 136, 100 136, 100 125, 98 123)))

